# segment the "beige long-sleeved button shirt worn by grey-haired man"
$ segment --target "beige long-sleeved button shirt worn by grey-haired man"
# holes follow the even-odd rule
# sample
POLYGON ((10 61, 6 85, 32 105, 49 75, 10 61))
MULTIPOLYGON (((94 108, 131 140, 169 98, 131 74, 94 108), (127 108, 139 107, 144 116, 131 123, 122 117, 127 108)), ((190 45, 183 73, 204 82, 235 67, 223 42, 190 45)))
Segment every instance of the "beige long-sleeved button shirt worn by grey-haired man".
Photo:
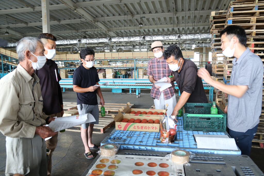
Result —
POLYGON ((39 78, 20 65, 0 79, 0 131, 8 137, 33 138, 48 117, 42 113, 39 78))

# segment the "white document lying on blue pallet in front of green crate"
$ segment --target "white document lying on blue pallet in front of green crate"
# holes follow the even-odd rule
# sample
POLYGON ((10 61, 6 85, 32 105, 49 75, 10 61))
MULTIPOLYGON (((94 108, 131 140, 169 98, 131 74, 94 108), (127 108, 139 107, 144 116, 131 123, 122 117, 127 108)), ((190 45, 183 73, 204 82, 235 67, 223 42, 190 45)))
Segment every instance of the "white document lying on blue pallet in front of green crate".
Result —
POLYGON ((196 137, 197 148, 238 150, 234 138, 223 137, 196 137))

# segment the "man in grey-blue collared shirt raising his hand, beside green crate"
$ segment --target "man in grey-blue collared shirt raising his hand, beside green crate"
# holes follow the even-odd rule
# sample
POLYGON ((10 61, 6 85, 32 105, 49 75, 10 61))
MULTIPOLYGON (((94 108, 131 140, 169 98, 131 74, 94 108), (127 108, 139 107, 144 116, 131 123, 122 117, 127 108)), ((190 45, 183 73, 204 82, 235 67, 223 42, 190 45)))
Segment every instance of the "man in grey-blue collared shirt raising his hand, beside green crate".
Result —
POLYGON ((204 68, 197 74, 208 84, 229 94, 228 106, 225 107, 229 135, 235 139, 241 154, 249 156, 251 141, 260 121, 263 63, 260 57, 246 48, 246 32, 240 26, 228 26, 220 36, 223 54, 229 58, 235 57, 230 85, 214 81, 204 68))

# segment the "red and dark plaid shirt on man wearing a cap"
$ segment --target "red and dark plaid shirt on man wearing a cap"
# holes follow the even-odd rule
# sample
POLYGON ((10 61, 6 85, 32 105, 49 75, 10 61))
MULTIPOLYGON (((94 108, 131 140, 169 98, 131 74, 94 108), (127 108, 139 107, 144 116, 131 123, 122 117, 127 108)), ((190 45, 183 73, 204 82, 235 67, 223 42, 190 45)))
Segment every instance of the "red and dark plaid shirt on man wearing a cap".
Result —
MULTIPOLYGON (((154 57, 148 61, 148 72, 147 75, 153 76, 155 81, 160 80, 163 77, 169 77, 172 75, 172 71, 169 69, 169 65, 167 64, 166 60, 162 58, 159 60, 158 58, 154 57)), ((175 85, 174 82, 171 82, 171 87, 165 89, 163 92, 164 99, 169 99, 173 95, 175 95, 175 85)), ((161 91, 152 84, 152 88, 150 91, 150 96, 159 99, 161 91)))

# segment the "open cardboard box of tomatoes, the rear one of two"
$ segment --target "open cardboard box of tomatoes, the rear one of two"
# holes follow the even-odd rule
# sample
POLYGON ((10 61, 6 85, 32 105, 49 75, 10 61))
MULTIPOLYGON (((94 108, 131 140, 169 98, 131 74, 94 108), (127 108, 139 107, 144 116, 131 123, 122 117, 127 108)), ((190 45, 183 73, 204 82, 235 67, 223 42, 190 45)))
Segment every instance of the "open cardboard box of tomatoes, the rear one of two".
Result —
MULTIPOLYGON (((156 109, 139 109, 139 108, 130 108, 130 103, 126 104, 126 108, 122 107, 122 111, 124 111, 125 115, 135 114, 140 116, 158 116, 165 115, 166 110, 156 110, 156 109)), ((121 110, 120 110, 121 111, 121 110)))

